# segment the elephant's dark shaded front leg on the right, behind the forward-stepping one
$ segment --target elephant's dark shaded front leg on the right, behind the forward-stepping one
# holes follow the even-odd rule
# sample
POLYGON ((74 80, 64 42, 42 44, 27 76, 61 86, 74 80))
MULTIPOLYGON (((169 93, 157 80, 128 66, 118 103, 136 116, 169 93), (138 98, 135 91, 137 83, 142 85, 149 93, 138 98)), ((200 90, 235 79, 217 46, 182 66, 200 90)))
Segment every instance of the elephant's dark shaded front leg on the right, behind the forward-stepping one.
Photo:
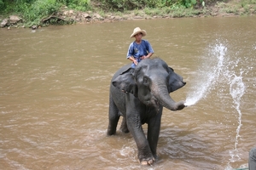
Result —
POLYGON ((157 159, 156 148, 160 134, 160 122, 162 111, 160 111, 155 117, 151 118, 148 122, 148 144, 154 159, 157 159))

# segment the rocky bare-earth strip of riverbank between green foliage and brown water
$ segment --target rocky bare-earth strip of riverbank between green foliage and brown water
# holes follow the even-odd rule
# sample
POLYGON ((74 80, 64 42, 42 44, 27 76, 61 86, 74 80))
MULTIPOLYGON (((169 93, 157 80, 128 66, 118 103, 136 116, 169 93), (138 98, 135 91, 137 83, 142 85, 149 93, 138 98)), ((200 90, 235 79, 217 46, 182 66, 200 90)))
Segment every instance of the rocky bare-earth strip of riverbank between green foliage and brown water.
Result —
POLYGON ((256 1, 243 3, 231 0, 227 3, 201 4, 195 8, 143 8, 126 10, 123 12, 106 12, 102 10, 101 3, 92 3, 95 11, 81 12, 67 7, 55 14, 40 20, 39 23, 26 23, 21 16, 11 14, 0 16, 0 26, 5 28, 30 27, 37 29, 40 26, 67 25, 67 24, 91 24, 102 22, 115 22, 121 20, 154 20, 159 18, 183 18, 183 17, 229 17, 256 14, 256 1))

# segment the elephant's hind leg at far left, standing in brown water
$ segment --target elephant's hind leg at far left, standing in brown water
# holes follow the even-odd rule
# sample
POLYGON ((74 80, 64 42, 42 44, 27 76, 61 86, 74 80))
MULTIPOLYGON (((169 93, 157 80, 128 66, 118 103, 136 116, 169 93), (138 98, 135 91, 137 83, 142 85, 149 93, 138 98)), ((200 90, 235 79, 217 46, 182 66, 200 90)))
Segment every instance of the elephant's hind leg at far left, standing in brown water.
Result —
POLYGON ((108 135, 116 133, 116 127, 119 122, 119 110, 114 104, 112 97, 109 98, 109 110, 108 110, 108 135))

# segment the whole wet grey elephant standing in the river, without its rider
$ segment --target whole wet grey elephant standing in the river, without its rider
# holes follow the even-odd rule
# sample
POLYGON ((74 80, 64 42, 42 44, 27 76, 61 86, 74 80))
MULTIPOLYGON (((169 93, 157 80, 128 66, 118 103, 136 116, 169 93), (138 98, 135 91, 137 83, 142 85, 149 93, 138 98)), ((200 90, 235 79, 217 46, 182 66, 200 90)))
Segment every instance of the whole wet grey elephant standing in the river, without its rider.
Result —
POLYGON ((116 133, 119 116, 123 116, 120 130, 131 132, 139 161, 150 165, 157 158, 163 106, 171 111, 182 110, 184 102, 175 102, 169 94, 186 83, 162 59, 143 59, 135 70, 130 66, 119 69, 111 80, 107 134, 116 133), (144 123, 148 123, 147 138, 143 132, 144 123))

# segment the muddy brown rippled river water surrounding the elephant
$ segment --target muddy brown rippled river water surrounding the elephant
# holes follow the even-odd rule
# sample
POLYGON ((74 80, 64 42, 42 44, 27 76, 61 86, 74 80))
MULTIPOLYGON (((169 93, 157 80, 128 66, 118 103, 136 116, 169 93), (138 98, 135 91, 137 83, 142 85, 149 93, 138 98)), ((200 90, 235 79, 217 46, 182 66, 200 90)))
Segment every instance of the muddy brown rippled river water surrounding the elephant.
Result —
MULTIPOLYGON (((256 18, 126 20, 0 29, 0 169, 232 169, 256 146, 256 18), (164 110, 159 161, 107 137, 108 88, 140 26, 187 85, 164 110)), ((147 126, 143 126, 147 129, 147 126)))

